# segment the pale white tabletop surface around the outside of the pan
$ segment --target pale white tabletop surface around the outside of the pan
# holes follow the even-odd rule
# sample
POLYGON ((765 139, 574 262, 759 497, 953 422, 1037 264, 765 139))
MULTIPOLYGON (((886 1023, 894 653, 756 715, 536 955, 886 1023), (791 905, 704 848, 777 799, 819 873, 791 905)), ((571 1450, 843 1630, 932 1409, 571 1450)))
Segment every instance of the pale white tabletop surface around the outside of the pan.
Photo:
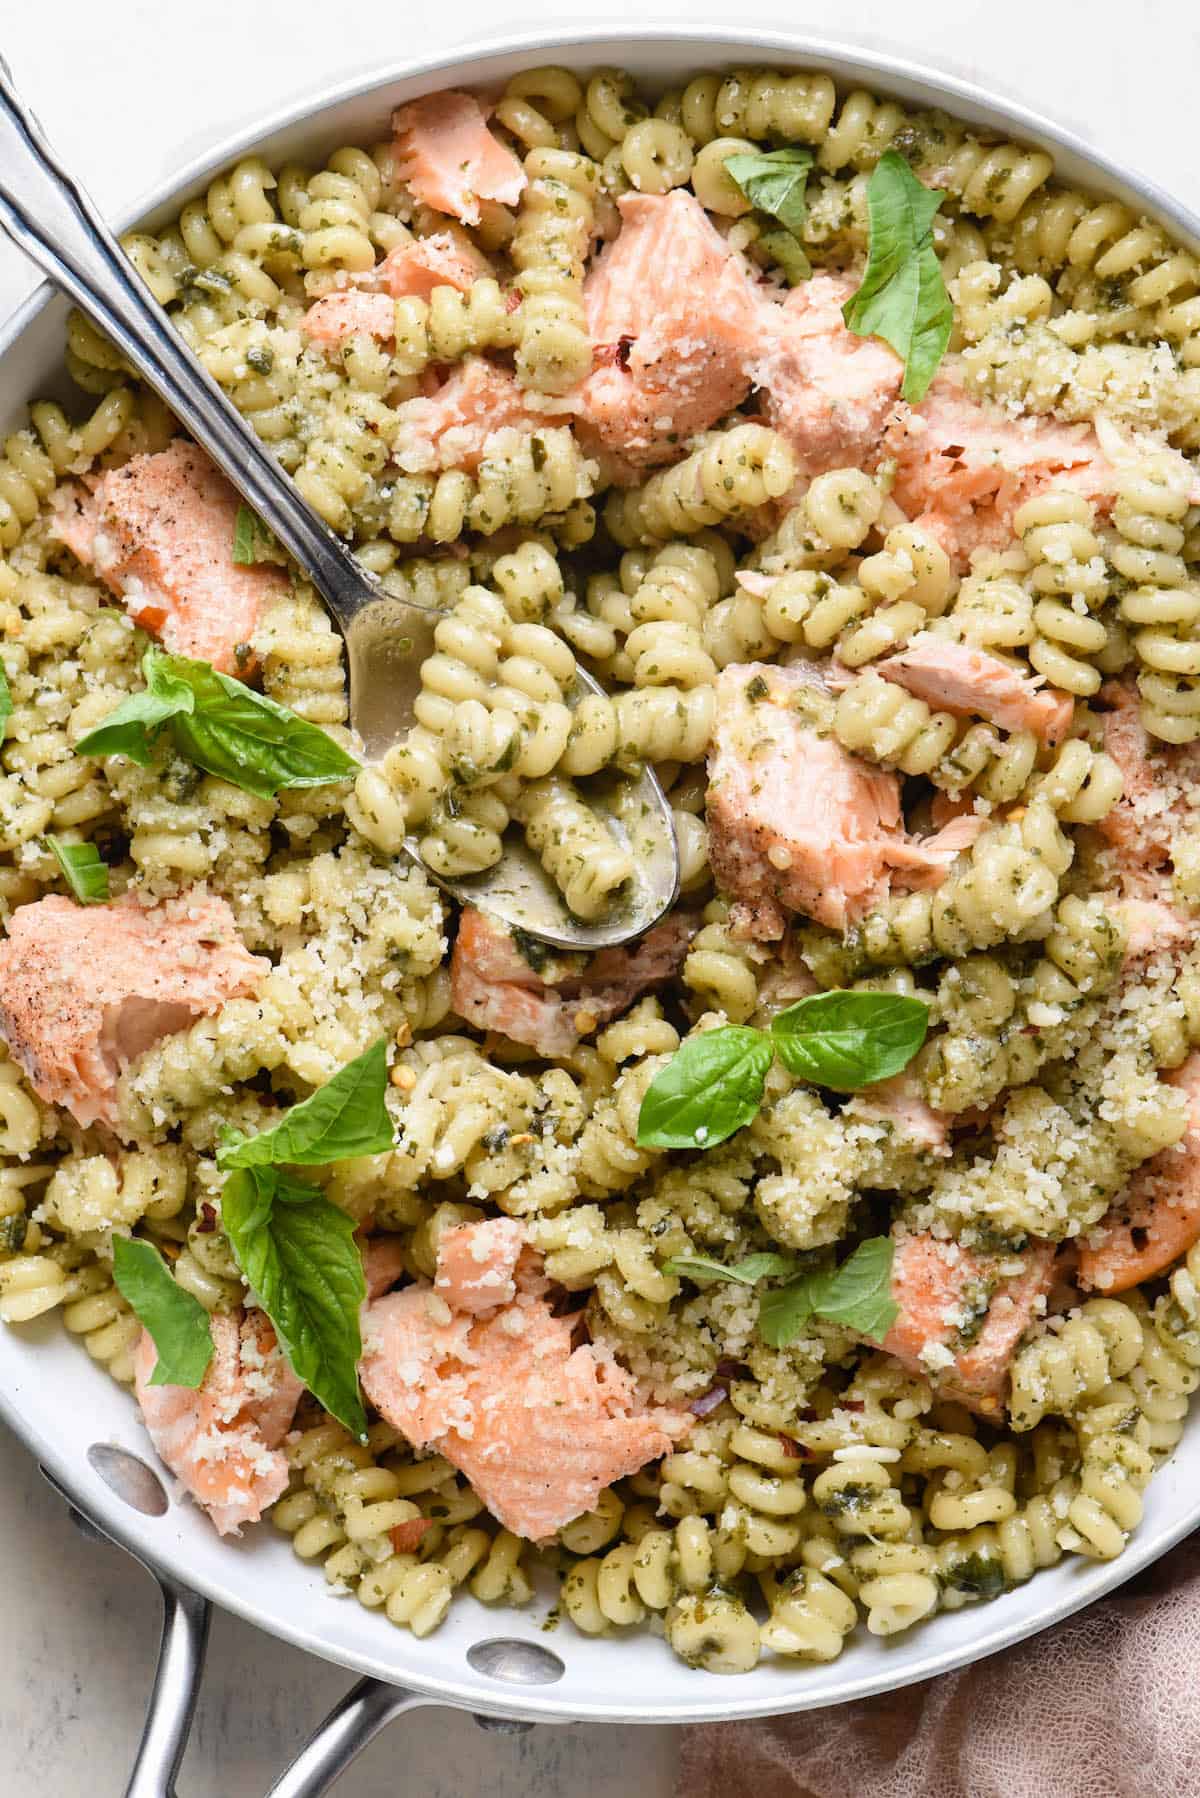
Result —
MULTIPOLYGON (((950 68, 1070 126, 1200 207, 1193 0, 608 0, 599 11, 524 0, 329 7, 317 0, 58 0, 0 5, 0 50, 52 140, 103 207, 124 209, 182 160, 252 119, 378 61, 428 56, 502 29, 617 23, 808 29, 950 68)), ((0 318, 32 279, 0 241, 0 318)), ((0 1438, 0 1739, 4 1798, 115 1798, 139 1737, 158 1631, 149 1580, 85 1543, 23 1449, 0 1438)), ((619 1649, 613 1649, 619 1652, 619 1649)), ((254 1798, 345 1690, 335 1667, 218 1618, 180 1791, 254 1798)), ((345 1798, 666 1798, 671 1730, 484 1735, 421 1712, 353 1767, 345 1798), (403 1733, 401 1733, 403 1731, 403 1733)))

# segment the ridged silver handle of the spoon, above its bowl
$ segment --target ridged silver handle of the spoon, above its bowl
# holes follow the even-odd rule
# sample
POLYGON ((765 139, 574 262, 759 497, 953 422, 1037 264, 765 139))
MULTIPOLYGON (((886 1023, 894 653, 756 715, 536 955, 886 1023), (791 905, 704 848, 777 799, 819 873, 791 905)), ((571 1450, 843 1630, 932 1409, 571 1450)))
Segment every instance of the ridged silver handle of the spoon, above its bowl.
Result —
POLYGON ((149 381, 345 626, 369 595, 362 570, 171 329, 94 200, 50 149, 2 56, 0 227, 149 381))

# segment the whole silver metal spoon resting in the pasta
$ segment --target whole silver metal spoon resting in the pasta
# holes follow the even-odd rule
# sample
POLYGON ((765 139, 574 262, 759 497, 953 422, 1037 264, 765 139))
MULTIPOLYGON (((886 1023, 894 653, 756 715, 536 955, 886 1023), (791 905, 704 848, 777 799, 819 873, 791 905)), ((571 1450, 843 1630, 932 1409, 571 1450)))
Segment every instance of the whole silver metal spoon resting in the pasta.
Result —
MULTIPOLYGON (((0 225, 112 340, 209 451, 248 505, 275 532, 333 613, 351 683, 351 723, 378 759, 412 723, 421 660, 437 613, 369 581, 349 548, 300 498, 241 414, 167 324, 81 183, 63 169, 41 126, 20 101, 0 58, 0 225)), ((579 676, 579 690, 599 690, 579 676)), ((604 809, 633 852, 633 890, 603 924, 583 924, 563 904, 516 831, 486 874, 439 881, 457 899, 484 903, 509 924, 563 949, 628 942, 671 906, 678 849, 671 807, 653 773, 613 777, 604 809)), ((419 859, 416 840, 407 843, 419 859)), ((434 876, 437 879, 437 876, 434 876)))

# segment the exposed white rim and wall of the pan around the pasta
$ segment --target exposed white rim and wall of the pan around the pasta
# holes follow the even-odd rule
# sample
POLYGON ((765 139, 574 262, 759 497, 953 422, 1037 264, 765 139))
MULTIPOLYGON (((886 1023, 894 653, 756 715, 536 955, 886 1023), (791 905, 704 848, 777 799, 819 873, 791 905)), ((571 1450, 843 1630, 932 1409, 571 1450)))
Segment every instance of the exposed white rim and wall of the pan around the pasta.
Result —
MULTIPOLYGON (((862 85, 943 106, 973 124, 1042 144, 1054 153, 1065 178, 1117 192, 1193 246, 1200 245, 1200 223, 1171 200, 1123 176, 1047 122, 995 104, 979 88, 811 38, 684 29, 509 38, 439 65, 376 72, 313 95, 219 146, 182 171, 169 191, 155 194, 139 218, 162 223, 250 147, 266 160, 286 160, 300 153, 317 156, 342 142, 371 142, 405 99, 452 83, 502 83, 518 68, 547 61, 574 68, 617 63, 649 86, 729 65, 824 68, 842 88, 862 85)), ((122 221, 128 223, 133 221, 122 221)), ((18 424, 31 397, 63 392, 65 318, 65 304, 40 293, 0 334, 5 430, 18 424)), ((243 1541, 221 1541, 193 1505, 167 1492, 146 1465, 148 1442, 130 1397, 92 1366, 52 1318, 0 1331, 0 1415, 79 1510, 151 1564, 297 1647, 491 1717, 718 1721, 806 1710, 903 1687, 991 1654, 1079 1609, 1200 1521, 1200 1431, 1191 1429, 1151 1482, 1144 1521, 1117 1562, 1063 1561, 990 1606, 943 1613, 909 1636, 867 1636, 828 1667, 766 1661, 750 1674, 721 1679, 687 1669, 648 1633, 615 1640, 581 1636, 567 1624, 556 1629, 549 1591, 524 1611, 491 1611, 464 1597, 446 1624, 421 1642, 358 1604, 331 1602, 320 1568, 300 1564, 281 1535, 263 1528, 243 1541)), ((52 1593, 47 1598, 56 1602, 52 1593)), ((67 1591, 61 1602, 68 1602, 67 1591)))

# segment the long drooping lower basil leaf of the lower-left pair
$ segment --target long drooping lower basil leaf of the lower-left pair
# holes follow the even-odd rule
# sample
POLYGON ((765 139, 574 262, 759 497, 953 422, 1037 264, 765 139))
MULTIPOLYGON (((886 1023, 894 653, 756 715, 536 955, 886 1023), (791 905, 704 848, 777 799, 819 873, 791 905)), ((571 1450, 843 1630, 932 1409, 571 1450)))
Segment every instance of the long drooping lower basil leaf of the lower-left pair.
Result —
POLYGON ((365 1440, 358 1307, 367 1282, 354 1219, 279 1169, 245 1167, 225 1181, 221 1223, 293 1372, 331 1417, 365 1440))

